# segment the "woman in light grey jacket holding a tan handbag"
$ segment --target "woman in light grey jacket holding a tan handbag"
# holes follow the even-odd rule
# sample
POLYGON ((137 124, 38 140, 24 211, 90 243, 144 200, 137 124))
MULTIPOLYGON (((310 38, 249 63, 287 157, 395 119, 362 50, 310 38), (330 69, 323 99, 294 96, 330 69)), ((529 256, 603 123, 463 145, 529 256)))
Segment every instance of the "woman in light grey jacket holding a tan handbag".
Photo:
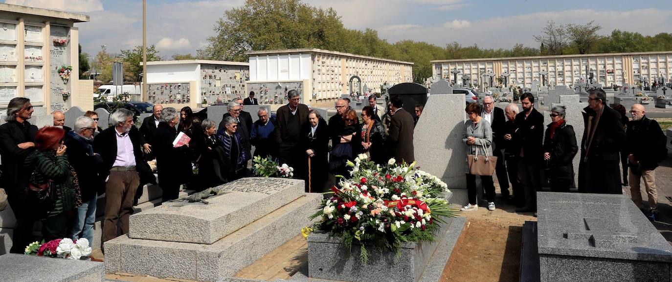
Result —
MULTIPOLYGON (((467 117, 469 118, 464 123, 465 131, 462 135, 462 141, 466 145, 466 165, 464 172, 466 173, 466 190, 469 198, 469 203, 460 210, 478 210, 478 201, 476 200, 476 173, 480 175, 480 182, 483 184, 485 190, 485 197, 488 200, 488 210, 495 210, 495 185, 493 184, 493 172, 483 173, 482 171, 489 171, 483 169, 485 166, 491 166, 491 163, 497 163, 497 159, 493 157, 493 130, 488 121, 480 117, 480 105, 478 103, 470 103, 466 109, 467 117), (480 167, 479 167, 480 166, 480 167), (484 175, 485 174, 485 175, 484 175)), ((492 165, 494 169, 495 166, 492 165)))

